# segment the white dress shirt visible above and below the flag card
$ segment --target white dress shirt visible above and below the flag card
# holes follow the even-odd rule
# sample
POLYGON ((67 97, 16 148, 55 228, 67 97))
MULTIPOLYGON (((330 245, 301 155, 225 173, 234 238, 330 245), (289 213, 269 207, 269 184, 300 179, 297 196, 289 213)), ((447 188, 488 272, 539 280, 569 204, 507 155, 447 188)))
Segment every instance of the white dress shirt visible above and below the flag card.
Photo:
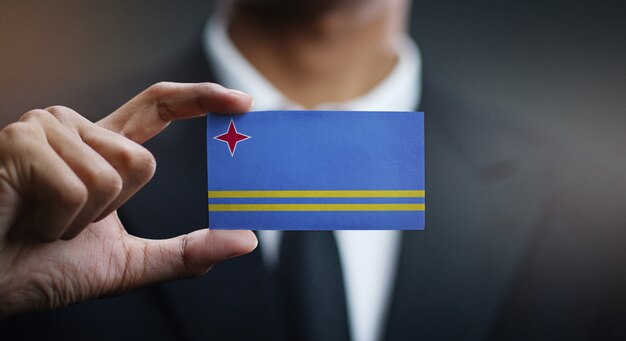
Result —
MULTIPOLYGON (((301 109, 237 50, 226 31, 227 16, 219 12, 204 29, 203 46, 217 80, 254 97, 253 110, 301 109)), ((396 44, 398 61, 374 89, 348 102, 324 103, 316 109, 412 111, 421 92, 421 59, 408 36, 396 44)), ((348 305, 350 331, 354 341, 381 337, 390 303, 400 250, 400 231, 335 231, 348 305)), ((260 231, 260 248, 269 267, 278 263, 280 231, 260 231)))

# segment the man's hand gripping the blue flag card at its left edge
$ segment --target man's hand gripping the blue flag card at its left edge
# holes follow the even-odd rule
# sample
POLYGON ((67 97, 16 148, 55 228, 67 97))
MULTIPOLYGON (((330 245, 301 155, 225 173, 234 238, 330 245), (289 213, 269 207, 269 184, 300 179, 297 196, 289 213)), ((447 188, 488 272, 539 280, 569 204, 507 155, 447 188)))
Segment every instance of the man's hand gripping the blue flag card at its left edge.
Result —
POLYGON ((116 213, 154 174, 140 143, 173 120, 245 112, 251 101, 217 84, 159 83, 96 124, 50 107, 0 130, 0 315, 198 276, 252 251, 250 231, 148 240, 116 213))

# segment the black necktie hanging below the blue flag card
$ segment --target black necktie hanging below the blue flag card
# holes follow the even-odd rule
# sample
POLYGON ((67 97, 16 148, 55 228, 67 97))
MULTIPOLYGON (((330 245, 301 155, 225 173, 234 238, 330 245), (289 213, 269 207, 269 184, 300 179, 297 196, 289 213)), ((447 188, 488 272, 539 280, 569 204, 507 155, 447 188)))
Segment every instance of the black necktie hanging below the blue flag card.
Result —
POLYGON ((287 340, 349 340, 348 314, 332 231, 286 231, 278 266, 287 340))

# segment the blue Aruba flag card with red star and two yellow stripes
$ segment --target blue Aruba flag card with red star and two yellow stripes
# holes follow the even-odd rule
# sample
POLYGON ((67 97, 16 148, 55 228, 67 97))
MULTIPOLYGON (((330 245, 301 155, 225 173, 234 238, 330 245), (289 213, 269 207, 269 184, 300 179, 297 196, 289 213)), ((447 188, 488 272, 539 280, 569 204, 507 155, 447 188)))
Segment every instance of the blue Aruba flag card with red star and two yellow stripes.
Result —
POLYGON ((423 113, 210 114, 207 154, 209 228, 424 228, 423 113))

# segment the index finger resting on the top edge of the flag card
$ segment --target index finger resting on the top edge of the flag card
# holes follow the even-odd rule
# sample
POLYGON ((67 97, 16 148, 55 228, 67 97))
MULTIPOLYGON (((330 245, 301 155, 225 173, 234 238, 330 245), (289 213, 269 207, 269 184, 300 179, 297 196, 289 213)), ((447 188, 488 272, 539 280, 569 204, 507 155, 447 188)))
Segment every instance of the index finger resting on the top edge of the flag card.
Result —
POLYGON ((238 114, 252 105, 252 97, 215 83, 161 82, 135 96, 109 116, 101 127, 143 143, 171 121, 203 116, 207 112, 238 114))

